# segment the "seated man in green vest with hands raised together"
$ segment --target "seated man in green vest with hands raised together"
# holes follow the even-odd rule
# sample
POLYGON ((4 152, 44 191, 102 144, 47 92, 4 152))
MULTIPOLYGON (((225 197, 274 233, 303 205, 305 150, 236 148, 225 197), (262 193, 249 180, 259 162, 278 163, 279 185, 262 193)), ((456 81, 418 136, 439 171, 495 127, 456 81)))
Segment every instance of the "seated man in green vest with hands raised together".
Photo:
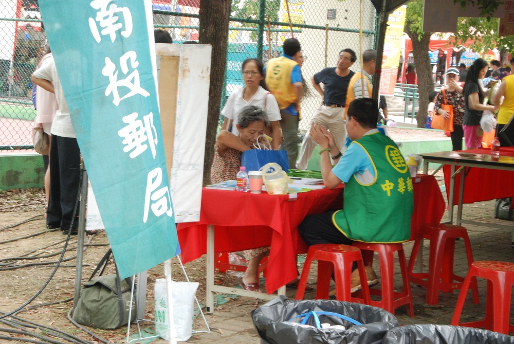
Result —
MULTIPOLYGON (((412 179, 398 146, 377 130, 377 118, 376 100, 361 98, 350 103, 345 126, 352 142, 334 167, 331 156, 340 152, 333 136, 322 126, 311 126, 310 135, 320 145, 323 183, 334 189, 344 182, 344 207, 305 217, 298 229, 307 245, 409 240, 414 209, 412 179)), ((368 282, 378 282, 371 266, 366 272, 368 282)), ((359 288, 355 270, 352 291, 359 288)))

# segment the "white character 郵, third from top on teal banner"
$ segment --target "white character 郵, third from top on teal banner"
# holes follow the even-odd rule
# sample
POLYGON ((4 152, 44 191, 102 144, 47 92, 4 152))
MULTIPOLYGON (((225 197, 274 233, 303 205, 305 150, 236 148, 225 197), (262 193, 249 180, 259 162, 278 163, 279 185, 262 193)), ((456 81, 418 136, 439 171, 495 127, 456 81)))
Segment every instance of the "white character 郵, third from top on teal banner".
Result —
POLYGON ((127 125, 118 131, 118 135, 123 137, 122 143, 125 145, 123 152, 131 152, 130 157, 134 159, 148 148, 148 144, 146 144, 146 141, 148 141, 152 156, 155 159, 157 131, 154 126, 153 113, 143 116, 143 120, 141 121, 137 119, 137 113, 134 112, 123 117, 123 122, 127 123, 127 125))

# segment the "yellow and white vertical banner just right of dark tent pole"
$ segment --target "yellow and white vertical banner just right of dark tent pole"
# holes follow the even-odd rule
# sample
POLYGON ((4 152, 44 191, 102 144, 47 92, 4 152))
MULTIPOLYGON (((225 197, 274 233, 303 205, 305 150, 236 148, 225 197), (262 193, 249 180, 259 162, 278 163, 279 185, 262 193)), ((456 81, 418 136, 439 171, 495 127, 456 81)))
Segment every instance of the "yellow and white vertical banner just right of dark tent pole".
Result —
POLYGON ((403 36, 406 10, 407 6, 400 6, 389 14, 382 57, 382 73, 380 74, 381 95, 394 94, 401 56, 401 37, 403 36))

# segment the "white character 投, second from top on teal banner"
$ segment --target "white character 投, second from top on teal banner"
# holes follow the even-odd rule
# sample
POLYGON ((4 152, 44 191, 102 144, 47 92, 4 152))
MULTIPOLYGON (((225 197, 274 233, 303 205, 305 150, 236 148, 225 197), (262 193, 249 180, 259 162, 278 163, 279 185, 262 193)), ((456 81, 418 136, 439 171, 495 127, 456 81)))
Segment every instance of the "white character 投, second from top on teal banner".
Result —
POLYGON ((128 73, 129 60, 130 67, 134 69, 131 74, 128 74, 125 79, 121 80, 118 80, 119 70, 116 70, 116 65, 108 57, 105 58, 105 67, 102 69, 102 74, 106 77, 109 77, 109 85, 105 89, 105 95, 108 96, 112 93, 114 96, 113 103, 116 106, 120 104, 121 100, 132 97, 136 94, 140 94, 143 97, 148 97, 150 95, 148 91, 139 86, 139 72, 136 69, 139 65, 139 62, 136 61, 136 58, 137 54, 134 50, 125 52, 120 58, 121 71, 124 75, 127 75, 128 73), (118 87, 127 87, 130 89, 130 92, 120 98, 118 87))

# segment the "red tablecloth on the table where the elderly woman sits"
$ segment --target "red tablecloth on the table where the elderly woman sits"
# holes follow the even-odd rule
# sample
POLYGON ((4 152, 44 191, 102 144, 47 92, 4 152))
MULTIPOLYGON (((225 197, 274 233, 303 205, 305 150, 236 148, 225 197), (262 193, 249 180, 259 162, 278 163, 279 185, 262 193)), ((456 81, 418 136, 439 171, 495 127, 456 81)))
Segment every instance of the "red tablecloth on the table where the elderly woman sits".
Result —
MULTIPOLYGON (((445 203, 433 176, 418 175, 413 179, 414 213, 411 228, 414 238, 424 223, 439 223, 445 203)), ((340 209, 343 186, 334 190, 314 190, 289 195, 250 194, 235 191, 203 189, 200 221, 177 226, 182 261, 187 263, 207 251, 207 225, 215 225, 215 251, 233 252, 271 246, 266 289, 269 294, 297 277, 296 254, 307 251, 298 233, 305 215, 340 209)), ((377 205, 387 207, 386 205, 377 205)))

